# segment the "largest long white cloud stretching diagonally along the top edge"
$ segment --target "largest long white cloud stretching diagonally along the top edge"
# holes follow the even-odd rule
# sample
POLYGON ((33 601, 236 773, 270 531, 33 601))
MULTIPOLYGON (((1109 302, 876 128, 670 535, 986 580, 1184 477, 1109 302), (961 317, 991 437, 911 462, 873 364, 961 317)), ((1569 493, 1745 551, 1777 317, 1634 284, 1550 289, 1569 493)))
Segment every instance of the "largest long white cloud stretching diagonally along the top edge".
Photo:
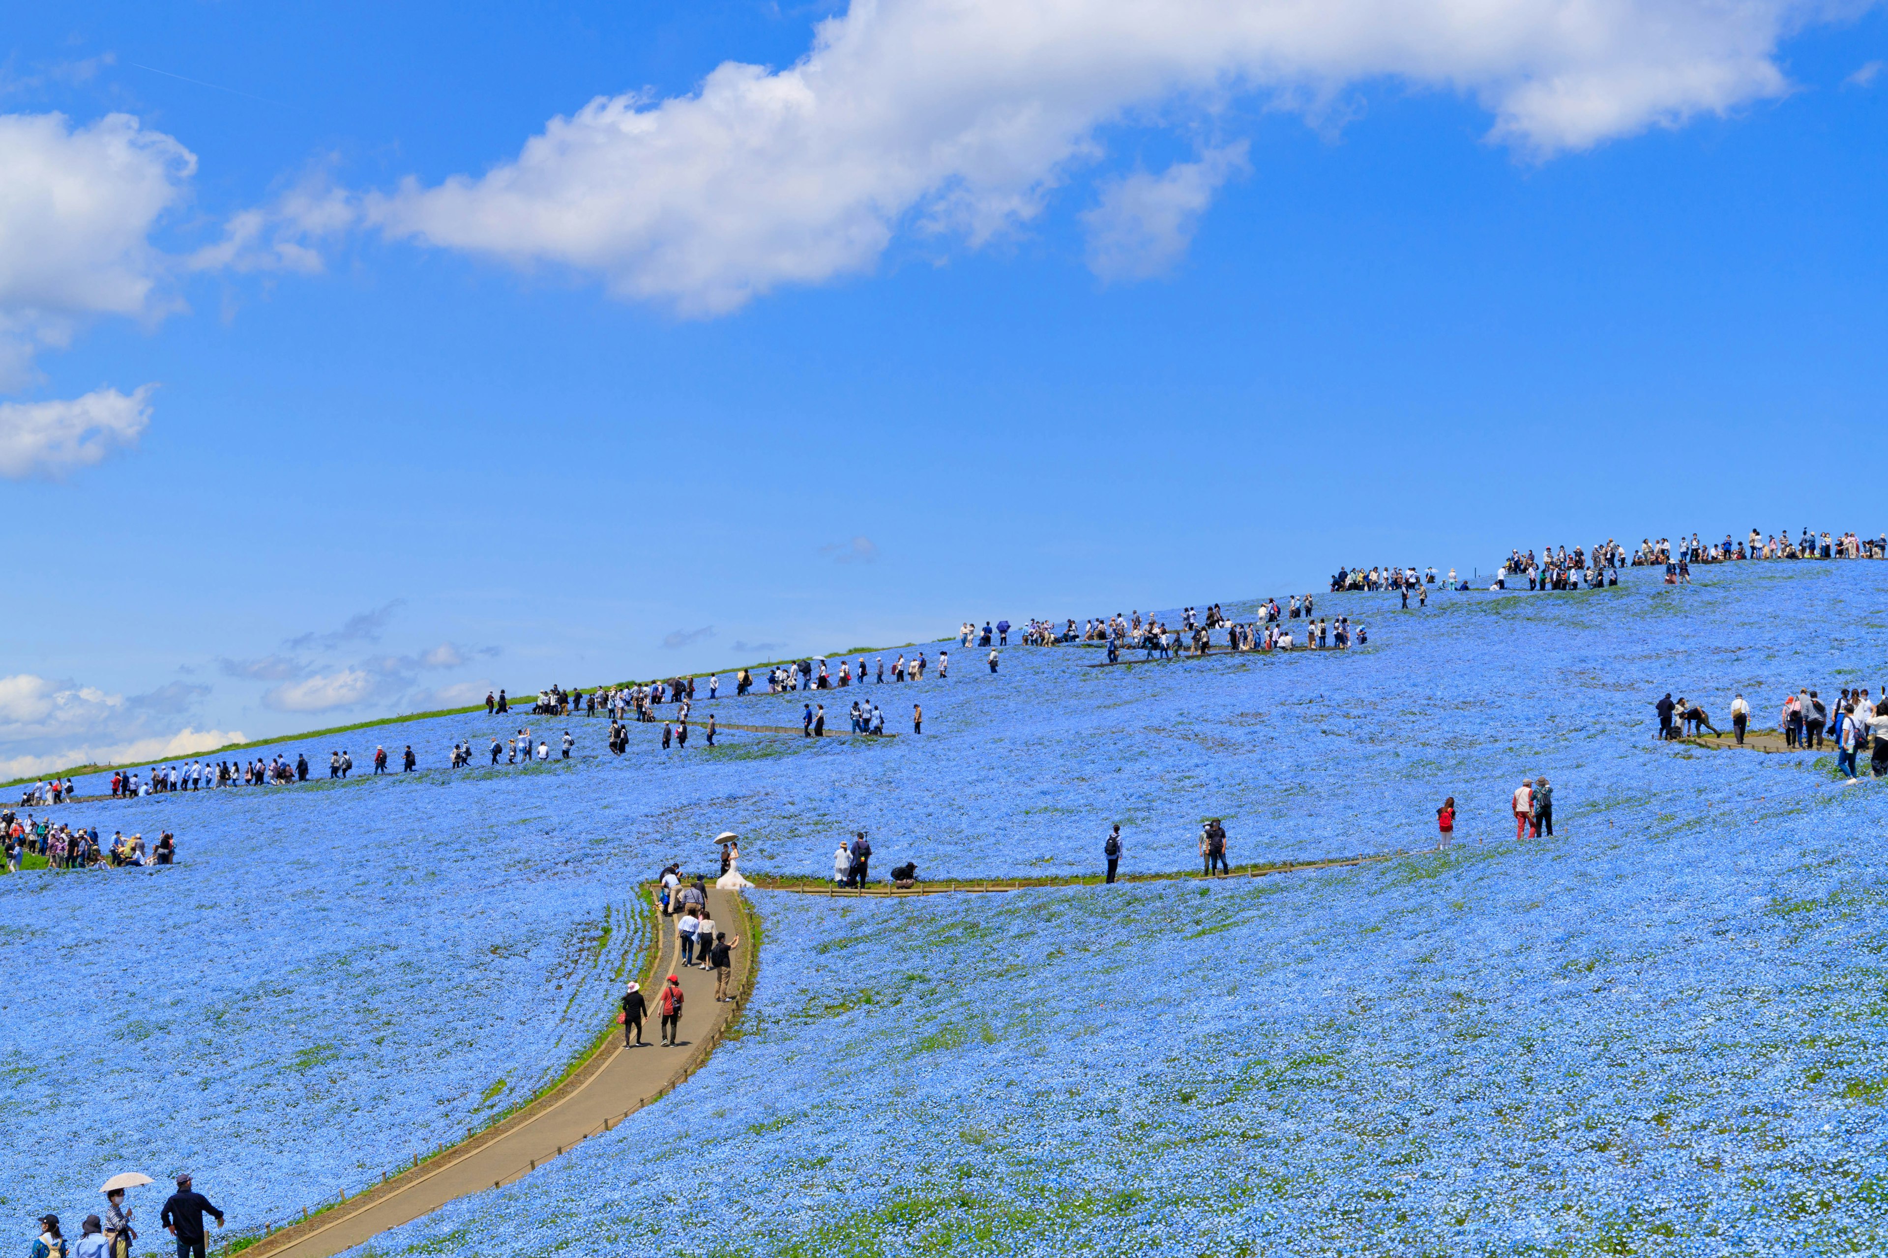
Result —
MULTIPOLYGON (((1097 128, 1227 94, 1318 109, 1391 79, 1492 136, 1582 149, 1778 96, 1792 28, 1845 0, 855 0, 793 66, 598 96, 517 158, 364 213, 389 236, 557 264, 683 313, 870 270, 904 223, 972 245, 1040 213, 1097 128)), ((1205 204, 1205 202, 1201 202, 1205 204)), ((1193 211, 1197 213, 1197 209, 1193 211)))

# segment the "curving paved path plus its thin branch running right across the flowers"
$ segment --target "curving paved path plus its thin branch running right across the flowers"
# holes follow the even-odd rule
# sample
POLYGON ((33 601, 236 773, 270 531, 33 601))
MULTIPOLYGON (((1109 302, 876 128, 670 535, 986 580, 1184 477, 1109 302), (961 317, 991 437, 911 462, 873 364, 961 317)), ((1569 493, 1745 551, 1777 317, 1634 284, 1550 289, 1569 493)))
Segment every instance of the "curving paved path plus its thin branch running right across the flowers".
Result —
MULTIPOLYGON (((1331 869, 1390 860, 1403 854, 1407 852, 1254 864, 1239 866, 1233 873, 1222 877, 1267 877, 1271 873, 1301 869, 1331 869)), ((1157 883, 1184 879, 1205 881, 1199 873, 1138 873, 1127 875, 1121 881, 1157 883)), ((910 888, 872 886, 851 890, 814 879, 797 881, 763 875, 753 881, 757 886, 768 890, 814 896, 936 896, 1078 886, 1093 885, 1099 879, 944 881, 910 888)), ((717 922, 738 922, 729 934, 738 934, 748 943, 759 937, 748 905, 738 894, 710 890, 708 909, 717 922)), ((663 924, 659 926, 663 939, 655 966, 644 979, 646 986, 653 990, 668 975, 682 975, 682 990, 687 994, 682 1026, 687 1037, 678 1047, 659 1047, 659 1018, 653 1015, 651 1001, 651 1020, 644 1030, 651 1041, 649 1047, 625 1049, 621 1034, 612 1032, 608 1047, 591 1056, 582 1069, 504 1122, 444 1149, 398 1175, 391 1175, 357 1198, 336 1201, 285 1228, 268 1228, 262 1239, 245 1249, 244 1254, 249 1258, 330 1258, 370 1241, 381 1232, 429 1215, 447 1201, 523 1179, 544 1162, 563 1156, 591 1135, 608 1132, 644 1105, 661 1100, 700 1069, 702 1062, 708 1060, 708 1054, 721 1041, 727 1026, 740 1013, 742 1005, 746 1005, 753 990, 759 958, 753 947, 734 951, 733 986, 736 996, 733 1001, 716 1003, 714 977, 704 969, 678 969, 680 956, 676 954, 674 934, 666 930, 666 919, 657 920, 663 924)))

